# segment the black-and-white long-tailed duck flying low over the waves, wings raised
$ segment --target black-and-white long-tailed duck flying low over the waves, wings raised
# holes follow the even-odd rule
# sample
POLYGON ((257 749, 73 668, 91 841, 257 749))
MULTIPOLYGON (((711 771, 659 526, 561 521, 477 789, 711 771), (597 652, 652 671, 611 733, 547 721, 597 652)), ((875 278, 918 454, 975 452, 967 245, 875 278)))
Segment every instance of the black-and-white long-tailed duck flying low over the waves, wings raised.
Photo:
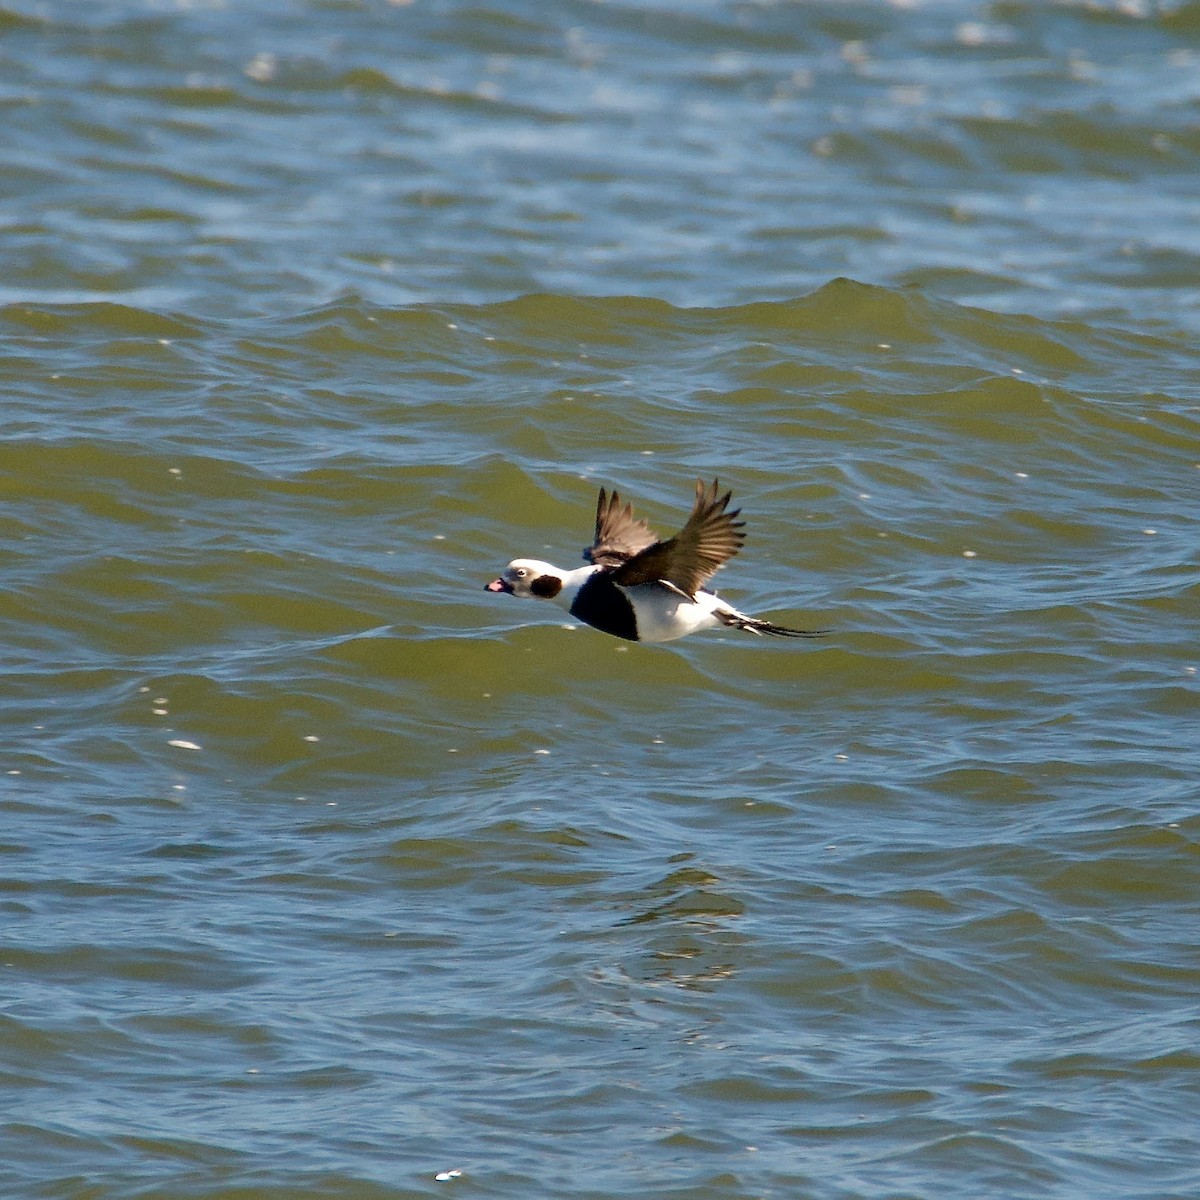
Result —
POLYGON ((742 510, 726 511, 732 492, 718 498, 696 480, 696 503, 688 523, 661 540, 634 516, 631 505, 600 488, 595 541, 583 551, 588 566, 564 571, 536 558, 516 558, 488 592, 553 600, 577 620, 631 642, 670 642, 697 629, 728 625, 751 634, 820 637, 827 630, 787 629, 738 612, 704 583, 745 540, 742 510))

